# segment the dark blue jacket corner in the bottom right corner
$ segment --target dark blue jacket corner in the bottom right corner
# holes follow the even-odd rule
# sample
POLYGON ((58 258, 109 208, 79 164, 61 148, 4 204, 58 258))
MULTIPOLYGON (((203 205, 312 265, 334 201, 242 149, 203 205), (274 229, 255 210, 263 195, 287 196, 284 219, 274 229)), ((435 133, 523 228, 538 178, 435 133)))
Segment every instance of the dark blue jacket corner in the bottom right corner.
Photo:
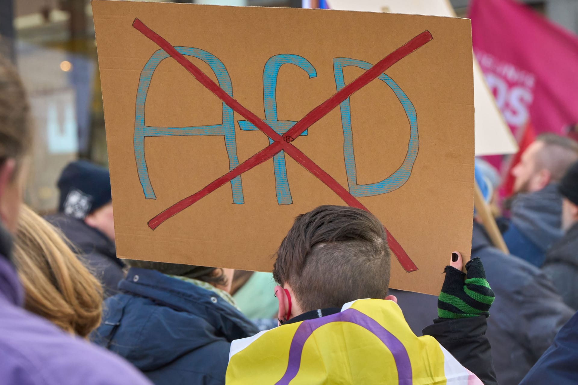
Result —
POLYGON ((578 313, 560 329, 552 346, 536 362, 520 385, 575 384, 578 379, 578 313))

